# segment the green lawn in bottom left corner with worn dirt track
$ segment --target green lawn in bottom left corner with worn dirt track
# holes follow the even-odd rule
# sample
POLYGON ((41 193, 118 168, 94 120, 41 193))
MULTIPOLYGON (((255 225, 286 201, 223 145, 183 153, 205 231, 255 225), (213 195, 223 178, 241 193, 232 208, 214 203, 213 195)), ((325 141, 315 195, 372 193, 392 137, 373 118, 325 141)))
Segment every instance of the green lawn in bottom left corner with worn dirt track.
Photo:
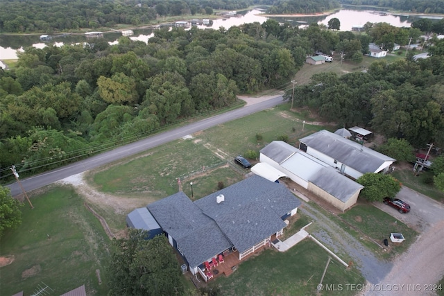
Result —
POLYGON ((21 290, 31 295, 42 281, 54 295, 83 284, 87 291, 106 295, 103 266, 109 239, 83 200, 69 187, 54 187, 32 202, 34 209, 25 204, 22 225, 1 238, 0 256, 15 260, 1 268, 0 295, 21 290))

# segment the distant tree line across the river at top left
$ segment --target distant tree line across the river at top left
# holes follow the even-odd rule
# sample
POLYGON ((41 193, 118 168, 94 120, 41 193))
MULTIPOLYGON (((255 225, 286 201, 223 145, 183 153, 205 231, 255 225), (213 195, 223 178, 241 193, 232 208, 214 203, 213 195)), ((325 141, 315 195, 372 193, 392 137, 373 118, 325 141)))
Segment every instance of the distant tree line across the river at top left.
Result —
POLYGON ((0 1, 0 33, 53 33, 114 27, 139 26, 157 17, 212 15, 214 10, 240 10, 266 0, 142 0, 0 1))

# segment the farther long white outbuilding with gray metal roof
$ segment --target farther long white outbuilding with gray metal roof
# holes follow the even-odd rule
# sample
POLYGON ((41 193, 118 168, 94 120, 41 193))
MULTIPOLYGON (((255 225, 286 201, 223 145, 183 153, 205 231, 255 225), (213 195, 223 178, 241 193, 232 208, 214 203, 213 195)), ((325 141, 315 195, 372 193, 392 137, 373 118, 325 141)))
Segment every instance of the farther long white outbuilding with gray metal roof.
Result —
POLYGON ((388 171, 396 160, 327 130, 310 134, 299 141, 301 150, 354 179, 365 173, 388 171))

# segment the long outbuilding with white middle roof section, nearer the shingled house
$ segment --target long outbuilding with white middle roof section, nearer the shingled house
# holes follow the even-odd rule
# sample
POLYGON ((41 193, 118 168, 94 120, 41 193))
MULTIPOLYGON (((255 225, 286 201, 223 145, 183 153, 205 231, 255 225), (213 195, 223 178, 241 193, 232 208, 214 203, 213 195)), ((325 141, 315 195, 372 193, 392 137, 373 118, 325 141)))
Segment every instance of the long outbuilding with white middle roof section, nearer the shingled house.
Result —
MULTIPOLYGON (((293 182, 345 211, 357 202, 363 186, 350 180, 320 159, 284 141, 273 141, 260 150, 260 164, 282 171, 293 182)), ((253 171, 253 170, 252 170, 253 171)))

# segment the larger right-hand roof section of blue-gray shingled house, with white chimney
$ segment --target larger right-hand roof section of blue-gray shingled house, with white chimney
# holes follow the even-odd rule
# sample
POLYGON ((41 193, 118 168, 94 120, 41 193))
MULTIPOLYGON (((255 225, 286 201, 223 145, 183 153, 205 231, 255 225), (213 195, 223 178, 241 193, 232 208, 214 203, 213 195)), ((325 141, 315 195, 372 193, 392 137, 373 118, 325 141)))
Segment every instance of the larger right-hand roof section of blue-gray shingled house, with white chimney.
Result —
POLYGON ((285 227, 282 216, 300 201, 284 185, 253 175, 195 202, 213 218, 239 252, 285 227), (224 201, 216 202, 223 194, 224 201))

